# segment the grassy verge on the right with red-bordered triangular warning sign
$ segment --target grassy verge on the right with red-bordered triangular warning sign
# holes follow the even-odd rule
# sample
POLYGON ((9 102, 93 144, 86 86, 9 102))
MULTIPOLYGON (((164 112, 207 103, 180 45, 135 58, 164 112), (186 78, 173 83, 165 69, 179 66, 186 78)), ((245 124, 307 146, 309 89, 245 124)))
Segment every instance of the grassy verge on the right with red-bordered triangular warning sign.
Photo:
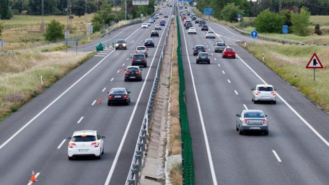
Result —
MULTIPOLYGON (((242 44, 241 44, 242 46, 242 44)), ((296 46, 278 44, 249 43, 247 50, 258 60, 276 72, 281 78, 295 86, 307 98, 329 112, 329 48, 323 46, 296 46), (307 62, 316 52, 324 69, 316 69, 316 81, 313 81, 313 69, 305 69, 307 62), (295 74, 297 78, 295 78, 295 74)))

